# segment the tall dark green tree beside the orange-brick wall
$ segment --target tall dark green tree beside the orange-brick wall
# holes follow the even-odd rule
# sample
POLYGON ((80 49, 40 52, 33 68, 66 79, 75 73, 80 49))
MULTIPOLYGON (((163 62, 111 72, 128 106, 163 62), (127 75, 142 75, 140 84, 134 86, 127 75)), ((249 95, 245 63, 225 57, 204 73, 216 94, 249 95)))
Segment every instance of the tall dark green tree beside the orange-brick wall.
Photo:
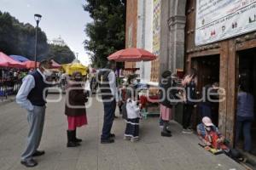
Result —
POLYGON ((94 20, 85 28, 84 48, 94 66, 104 67, 109 54, 125 48, 125 0, 86 0, 84 10, 94 20))

